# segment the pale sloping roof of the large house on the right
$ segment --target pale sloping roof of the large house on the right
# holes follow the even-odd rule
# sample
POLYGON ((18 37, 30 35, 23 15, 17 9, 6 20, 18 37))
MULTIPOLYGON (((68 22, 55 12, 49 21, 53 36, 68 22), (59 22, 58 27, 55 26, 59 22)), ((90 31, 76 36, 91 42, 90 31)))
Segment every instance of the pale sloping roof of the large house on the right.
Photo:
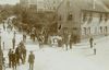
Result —
POLYGON ((70 7, 73 7, 73 10, 90 10, 90 11, 99 11, 99 12, 109 12, 109 9, 100 1, 96 0, 94 4, 94 0, 64 0, 65 2, 70 1, 70 7))

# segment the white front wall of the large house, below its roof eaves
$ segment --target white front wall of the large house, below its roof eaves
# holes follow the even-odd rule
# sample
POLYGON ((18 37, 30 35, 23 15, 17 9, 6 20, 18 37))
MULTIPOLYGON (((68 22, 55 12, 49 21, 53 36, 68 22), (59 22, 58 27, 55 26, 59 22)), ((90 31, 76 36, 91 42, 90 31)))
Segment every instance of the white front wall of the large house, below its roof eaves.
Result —
POLYGON ((90 34, 88 33, 89 31, 87 30, 87 35, 99 35, 99 34, 106 34, 106 28, 105 26, 108 27, 108 33, 109 33, 109 20, 106 22, 105 20, 102 20, 99 23, 99 18, 93 18, 93 21, 90 23, 84 22, 82 24, 82 35, 85 35, 85 31, 84 27, 88 28, 90 27, 90 34), (102 32, 100 32, 100 26, 102 27, 102 32))

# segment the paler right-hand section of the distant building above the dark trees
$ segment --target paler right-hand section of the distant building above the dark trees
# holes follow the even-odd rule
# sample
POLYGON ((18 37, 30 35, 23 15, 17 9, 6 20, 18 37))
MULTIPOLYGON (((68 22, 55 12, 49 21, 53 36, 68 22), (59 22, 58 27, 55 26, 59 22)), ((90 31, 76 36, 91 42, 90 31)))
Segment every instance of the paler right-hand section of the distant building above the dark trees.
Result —
POLYGON ((37 0, 37 11, 56 11, 62 0, 37 0))

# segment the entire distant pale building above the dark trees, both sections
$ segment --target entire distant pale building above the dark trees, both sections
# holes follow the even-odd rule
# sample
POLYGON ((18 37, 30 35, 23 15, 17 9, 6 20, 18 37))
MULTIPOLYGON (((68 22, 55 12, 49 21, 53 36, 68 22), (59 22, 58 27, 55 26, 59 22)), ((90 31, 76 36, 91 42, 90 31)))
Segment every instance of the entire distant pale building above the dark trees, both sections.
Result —
POLYGON ((20 0, 22 7, 37 8, 37 11, 56 11, 62 0, 20 0))

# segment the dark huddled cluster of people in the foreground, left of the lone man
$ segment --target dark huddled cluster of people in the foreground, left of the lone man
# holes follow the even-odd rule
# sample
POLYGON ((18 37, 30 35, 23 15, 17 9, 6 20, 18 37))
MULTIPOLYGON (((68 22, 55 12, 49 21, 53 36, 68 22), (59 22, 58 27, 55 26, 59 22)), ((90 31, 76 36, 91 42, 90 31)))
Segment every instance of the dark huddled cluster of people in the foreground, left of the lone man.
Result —
POLYGON ((16 66, 22 62, 25 63, 26 60, 26 48, 25 45, 21 42, 17 47, 14 49, 10 49, 8 52, 9 56, 9 67, 16 69, 16 66))

